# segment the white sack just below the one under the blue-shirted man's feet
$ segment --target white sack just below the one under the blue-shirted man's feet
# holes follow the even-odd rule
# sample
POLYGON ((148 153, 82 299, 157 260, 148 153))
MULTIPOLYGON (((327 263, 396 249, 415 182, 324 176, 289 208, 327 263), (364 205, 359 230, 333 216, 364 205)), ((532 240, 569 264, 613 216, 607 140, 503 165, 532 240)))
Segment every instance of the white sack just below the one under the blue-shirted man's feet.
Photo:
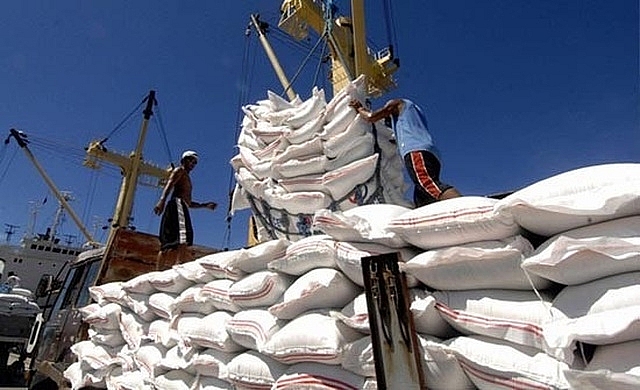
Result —
POLYGON ((532 252, 527 239, 514 236, 434 249, 399 266, 436 290, 546 289, 552 284, 550 281, 526 275, 520 267, 524 257, 532 252))

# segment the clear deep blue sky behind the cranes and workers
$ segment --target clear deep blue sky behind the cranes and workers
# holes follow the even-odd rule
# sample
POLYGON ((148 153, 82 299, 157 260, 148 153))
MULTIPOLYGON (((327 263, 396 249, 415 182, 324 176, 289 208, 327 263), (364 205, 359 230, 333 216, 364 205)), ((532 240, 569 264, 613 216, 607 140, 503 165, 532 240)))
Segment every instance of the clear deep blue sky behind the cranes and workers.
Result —
MULTIPOLYGON (((340 8, 348 3, 337 1, 340 8)), ((369 39, 386 46, 383 2, 366 3, 369 39)), ((393 97, 423 106, 442 152, 442 177, 464 194, 516 190, 586 165, 638 162, 637 1, 391 3, 399 87, 374 107, 393 97)), ((247 38, 245 28, 251 13, 275 28, 279 6, 0 2, 0 136, 15 127, 33 138, 32 152, 56 185, 73 193, 76 213, 101 238, 120 178, 113 167, 83 167, 83 148, 106 137, 154 89, 159 114, 149 126, 145 159, 166 166, 182 150, 197 150, 194 199, 215 200, 220 208, 193 210, 196 243, 242 246, 246 213, 230 230, 225 221, 239 104, 265 98, 268 89, 282 91, 255 34, 247 38)), ((270 39, 291 77, 306 53, 281 34, 270 39)), ((294 85, 303 98, 313 86, 313 61, 294 85)), ((322 77, 316 84, 330 90, 322 77)), ((129 153, 140 124, 141 115, 134 116, 106 146, 129 153)), ((139 230, 157 231, 152 208, 159 193, 138 190, 133 215, 139 230)), ((22 234, 29 203, 45 197, 39 231, 55 211, 53 196, 14 142, 0 145, 0 229, 19 225, 22 234)), ((79 235, 71 219, 60 233, 79 235)))

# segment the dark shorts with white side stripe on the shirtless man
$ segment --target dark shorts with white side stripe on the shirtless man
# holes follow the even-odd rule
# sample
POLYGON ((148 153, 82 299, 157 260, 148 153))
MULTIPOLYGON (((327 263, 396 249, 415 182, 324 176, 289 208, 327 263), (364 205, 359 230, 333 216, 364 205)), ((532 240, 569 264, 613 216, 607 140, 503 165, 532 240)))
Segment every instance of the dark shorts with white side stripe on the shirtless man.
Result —
POLYGON ((193 245, 191 216, 186 203, 179 198, 169 200, 160 221, 160 250, 176 248, 178 245, 193 245))

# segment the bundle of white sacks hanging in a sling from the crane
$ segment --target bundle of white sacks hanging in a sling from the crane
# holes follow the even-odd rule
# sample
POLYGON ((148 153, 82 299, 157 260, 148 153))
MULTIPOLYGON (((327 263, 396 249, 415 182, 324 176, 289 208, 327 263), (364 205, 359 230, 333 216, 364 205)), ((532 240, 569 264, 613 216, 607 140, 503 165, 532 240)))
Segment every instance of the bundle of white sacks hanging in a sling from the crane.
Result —
POLYGON ((261 241, 311 235, 318 209, 410 206, 393 131, 349 107, 363 100, 363 86, 360 77, 328 103, 322 89, 292 102, 269 91, 268 99, 243 107, 239 153, 231 160, 232 211, 252 209, 261 241))

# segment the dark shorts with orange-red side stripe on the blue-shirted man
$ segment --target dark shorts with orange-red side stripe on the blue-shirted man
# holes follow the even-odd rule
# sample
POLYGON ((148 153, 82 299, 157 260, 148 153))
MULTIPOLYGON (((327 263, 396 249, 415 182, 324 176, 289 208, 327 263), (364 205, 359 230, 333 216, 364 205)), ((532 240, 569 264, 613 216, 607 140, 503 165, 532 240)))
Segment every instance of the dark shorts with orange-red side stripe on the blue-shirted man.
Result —
POLYGON ((440 161, 431 152, 409 152, 404 156, 404 165, 413 180, 413 202, 416 207, 436 202, 443 192, 452 188, 440 181, 440 161))

